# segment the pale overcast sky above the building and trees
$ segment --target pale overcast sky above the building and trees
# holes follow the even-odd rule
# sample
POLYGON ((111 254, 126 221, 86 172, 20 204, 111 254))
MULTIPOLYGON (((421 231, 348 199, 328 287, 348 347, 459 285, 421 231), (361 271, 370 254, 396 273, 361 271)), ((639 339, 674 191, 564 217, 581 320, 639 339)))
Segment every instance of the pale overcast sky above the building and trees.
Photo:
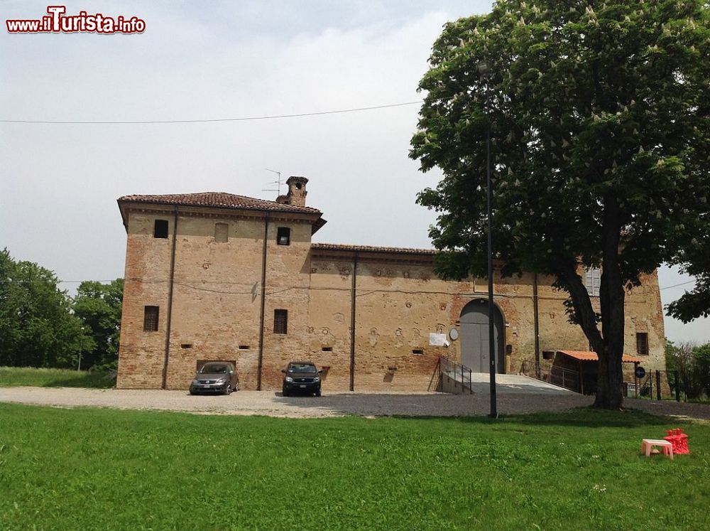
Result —
MULTIPOLYGON (((60 4, 52 2, 50 4, 60 4)), ((47 1, 3 1, 41 18, 47 1)), ((141 34, 0 31, 0 119, 139 121, 263 117, 415 102, 448 20, 490 1, 82 0, 67 14, 137 16, 141 34)), ((0 123, 0 247, 52 269, 72 291, 122 277, 116 198, 224 191, 275 199, 275 175, 310 179, 318 242, 430 247, 415 204, 440 174, 408 159, 417 104, 325 116, 209 124, 0 123)), ((282 189, 283 191, 283 189, 282 189)), ((662 269, 663 302, 692 284, 662 269)), ((666 318, 674 341, 710 323, 666 318)))

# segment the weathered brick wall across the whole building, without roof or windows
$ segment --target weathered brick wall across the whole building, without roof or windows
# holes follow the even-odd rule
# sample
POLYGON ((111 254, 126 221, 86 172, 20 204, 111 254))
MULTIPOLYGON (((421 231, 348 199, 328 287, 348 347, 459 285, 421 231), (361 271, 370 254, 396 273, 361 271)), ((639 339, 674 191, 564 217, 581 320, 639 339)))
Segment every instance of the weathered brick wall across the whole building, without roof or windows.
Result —
MULTIPOLYGON (((225 213, 181 213, 175 250, 173 318, 167 386, 186 389, 197 360, 236 362, 243 389, 257 385, 263 213, 252 218, 225 213), (229 225, 227 242, 215 241, 215 222, 229 225)), ((168 316, 173 220, 169 211, 129 215, 126 289, 121 326, 119 387, 160 387, 168 316), (153 220, 170 220, 170 237, 153 238, 153 220), (143 332, 143 306, 160 306, 159 329, 143 332)), ((329 368, 324 391, 347 390, 350 381, 352 253, 315 252, 311 226, 297 216, 271 214, 267 240, 262 388, 280 389, 290 360, 329 368), (290 227, 290 245, 277 245, 278 227, 290 227), (273 333, 275 309, 288 311, 288 333, 273 333), (324 351, 324 348, 332 349, 324 351)), ((506 372, 534 359, 532 275, 494 277, 496 304, 506 326, 506 372)), ((552 279, 539 281, 540 350, 589 350, 579 326, 569 324, 564 294, 552 279)), ((356 276, 355 390, 431 390, 440 355, 461 359, 460 341, 429 345, 429 333, 459 328, 469 301, 486 297, 486 279, 442 281, 430 259, 400 254, 358 257, 356 276), (414 351, 421 350, 422 353, 414 351)), ((597 307, 599 299, 594 298, 597 307)), ((626 353, 635 354, 635 333, 648 333, 647 370, 665 368, 657 277, 627 295, 626 353)))

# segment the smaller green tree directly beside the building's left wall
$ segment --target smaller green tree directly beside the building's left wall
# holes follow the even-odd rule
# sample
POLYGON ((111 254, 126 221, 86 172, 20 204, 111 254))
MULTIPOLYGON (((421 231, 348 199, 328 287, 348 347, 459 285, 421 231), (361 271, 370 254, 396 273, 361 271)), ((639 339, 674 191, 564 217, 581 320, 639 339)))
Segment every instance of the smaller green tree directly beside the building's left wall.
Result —
POLYGON ((84 281, 77 289, 73 309, 84 321, 92 341, 87 344, 82 360, 86 368, 113 369, 118 363, 121 331, 121 302, 124 279, 109 284, 84 281))

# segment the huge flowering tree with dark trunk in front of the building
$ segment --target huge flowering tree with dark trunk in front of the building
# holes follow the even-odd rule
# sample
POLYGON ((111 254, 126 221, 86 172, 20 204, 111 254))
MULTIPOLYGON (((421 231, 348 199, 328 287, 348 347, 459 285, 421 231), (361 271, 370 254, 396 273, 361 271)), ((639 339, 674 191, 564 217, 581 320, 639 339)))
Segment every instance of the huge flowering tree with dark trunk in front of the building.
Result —
POLYGON ((410 156, 443 172, 418 198, 439 212, 439 274, 486 272, 490 129, 496 258, 567 291, 599 355, 598 407, 623 401, 626 289, 702 232, 708 26, 701 0, 501 0, 444 26, 420 82, 410 156), (602 268, 599 313, 581 266, 602 268))

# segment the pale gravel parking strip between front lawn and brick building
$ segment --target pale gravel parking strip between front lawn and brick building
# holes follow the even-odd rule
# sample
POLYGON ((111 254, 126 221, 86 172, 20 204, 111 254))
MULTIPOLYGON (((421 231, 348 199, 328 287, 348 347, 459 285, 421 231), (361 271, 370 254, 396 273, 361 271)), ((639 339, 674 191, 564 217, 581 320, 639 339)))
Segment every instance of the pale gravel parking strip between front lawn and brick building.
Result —
MULTIPOLYGON (((239 391, 229 396, 190 396, 185 391, 96 390, 71 387, 0 387, 0 402, 41 404, 58 407, 114 407, 118 409, 163 409, 198 414, 266 415, 269 417, 461 417, 486 415, 488 395, 442 395, 439 393, 337 393, 316 397, 282 397, 280 392, 239 391)), ((562 411, 588 406, 593 397, 576 394, 498 395, 501 414, 562 411)), ((710 419, 710 405, 677 404, 627 399, 626 407, 655 414, 710 419)))

